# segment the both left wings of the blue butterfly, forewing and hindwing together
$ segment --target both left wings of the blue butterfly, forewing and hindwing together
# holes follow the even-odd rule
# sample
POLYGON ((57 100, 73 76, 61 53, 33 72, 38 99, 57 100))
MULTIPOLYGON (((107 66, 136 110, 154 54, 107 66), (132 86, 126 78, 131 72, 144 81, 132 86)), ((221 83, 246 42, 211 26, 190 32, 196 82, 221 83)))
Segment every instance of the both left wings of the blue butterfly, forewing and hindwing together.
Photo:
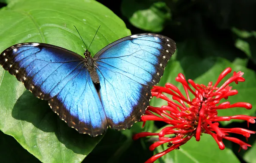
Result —
POLYGON ((97 136, 107 119, 84 58, 43 43, 21 43, 0 54, 0 64, 36 97, 49 100, 59 117, 79 133, 97 136))

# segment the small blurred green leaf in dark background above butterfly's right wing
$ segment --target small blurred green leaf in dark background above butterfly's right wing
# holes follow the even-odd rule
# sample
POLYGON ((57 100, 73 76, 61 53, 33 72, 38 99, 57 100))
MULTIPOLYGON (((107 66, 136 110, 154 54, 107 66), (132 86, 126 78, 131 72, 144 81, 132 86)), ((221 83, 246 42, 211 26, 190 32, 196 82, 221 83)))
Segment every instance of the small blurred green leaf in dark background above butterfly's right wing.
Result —
POLYGON ((165 2, 155 0, 123 0, 122 13, 131 24, 142 30, 160 32, 171 19, 171 10, 165 2))

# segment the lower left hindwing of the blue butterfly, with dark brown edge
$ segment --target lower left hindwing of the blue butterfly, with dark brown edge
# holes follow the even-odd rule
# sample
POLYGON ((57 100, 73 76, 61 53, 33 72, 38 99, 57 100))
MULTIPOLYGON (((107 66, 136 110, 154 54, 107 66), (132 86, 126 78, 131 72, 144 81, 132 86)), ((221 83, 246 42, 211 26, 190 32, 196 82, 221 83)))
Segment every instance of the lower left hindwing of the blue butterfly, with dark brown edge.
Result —
POLYGON ((49 105, 68 126, 97 136, 107 130, 107 118, 87 69, 67 82, 49 105))

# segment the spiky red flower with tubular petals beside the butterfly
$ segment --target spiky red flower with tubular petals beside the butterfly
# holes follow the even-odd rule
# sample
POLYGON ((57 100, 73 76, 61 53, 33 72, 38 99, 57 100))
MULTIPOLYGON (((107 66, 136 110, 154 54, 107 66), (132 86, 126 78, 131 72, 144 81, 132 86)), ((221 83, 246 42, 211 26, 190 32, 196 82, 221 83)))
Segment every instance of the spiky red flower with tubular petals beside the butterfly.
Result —
POLYGON ((143 132, 137 133, 133 136, 134 140, 145 136, 158 136, 159 141, 155 142, 149 147, 149 150, 151 151, 159 145, 168 143, 168 149, 154 155, 149 160, 147 160, 146 163, 152 163, 168 152, 174 149, 179 149, 180 145, 185 144, 193 136, 195 136, 195 139, 199 141, 202 133, 210 134, 213 139, 215 139, 219 145, 219 149, 221 150, 225 148, 222 139, 235 142, 240 145, 240 148, 243 148, 244 150, 246 150, 247 147, 251 147, 251 145, 237 138, 229 137, 229 133, 241 134, 247 139, 250 137, 250 134, 255 133, 254 131, 246 130, 243 128, 219 127, 218 121, 230 121, 231 119, 245 120, 247 121, 248 125, 249 123, 255 123, 254 119, 256 117, 251 117, 248 115, 235 115, 226 117, 218 116, 218 109, 228 109, 235 107, 242 107, 246 109, 252 108, 250 103, 243 102, 230 104, 227 101, 219 104, 221 99, 228 99, 229 96, 238 94, 237 90, 232 90, 232 87, 229 86, 230 83, 235 82, 238 84, 238 82, 245 81, 245 79, 242 77, 244 72, 233 72, 233 76, 218 88, 217 85, 219 82, 231 71, 232 69, 230 67, 226 68, 219 75, 215 85, 213 85, 212 82, 209 82, 208 86, 199 85, 195 84, 191 79, 189 79, 188 82, 192 88, 195 89, 195 91, 193 91, 188 82, 186 82, 184 75, 180 73, 176 78, 176 81, 183 85, 186 92, 186 97, 181 94, 176 86, 170 83, 167 83, 165 87, 155 86, 152 88, 152 96, 166 100, 168 106, 162 106, 161 108, 149 106, 145 115, 141 117, 143 126, 145 125, 146 121, 164 121, 167 124, 171 124, 171 127, 165 127, 159 133, 143 132), (192 100, 190 100, 189 91, 195 96, 195 98, 192 100), (172 95, 173 100, 170 100, 168 97, 162 94, 163 92, 172 95), (174 101, 178 102, 179 104, 175 103, 174 101))

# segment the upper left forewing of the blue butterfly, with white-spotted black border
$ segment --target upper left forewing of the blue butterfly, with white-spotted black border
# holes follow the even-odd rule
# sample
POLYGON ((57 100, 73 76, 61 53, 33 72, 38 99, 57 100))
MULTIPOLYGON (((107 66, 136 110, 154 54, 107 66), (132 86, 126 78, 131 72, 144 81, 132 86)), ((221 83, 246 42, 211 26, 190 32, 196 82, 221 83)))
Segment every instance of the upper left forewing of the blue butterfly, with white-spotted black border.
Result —
POLYGON ((0 64, 35 96, 49 100, 64 87, 59 84, 64 78, 76 75, 74 69, 83 60, 63 49, 43 43, 17 44, 1 53, 0 64))

